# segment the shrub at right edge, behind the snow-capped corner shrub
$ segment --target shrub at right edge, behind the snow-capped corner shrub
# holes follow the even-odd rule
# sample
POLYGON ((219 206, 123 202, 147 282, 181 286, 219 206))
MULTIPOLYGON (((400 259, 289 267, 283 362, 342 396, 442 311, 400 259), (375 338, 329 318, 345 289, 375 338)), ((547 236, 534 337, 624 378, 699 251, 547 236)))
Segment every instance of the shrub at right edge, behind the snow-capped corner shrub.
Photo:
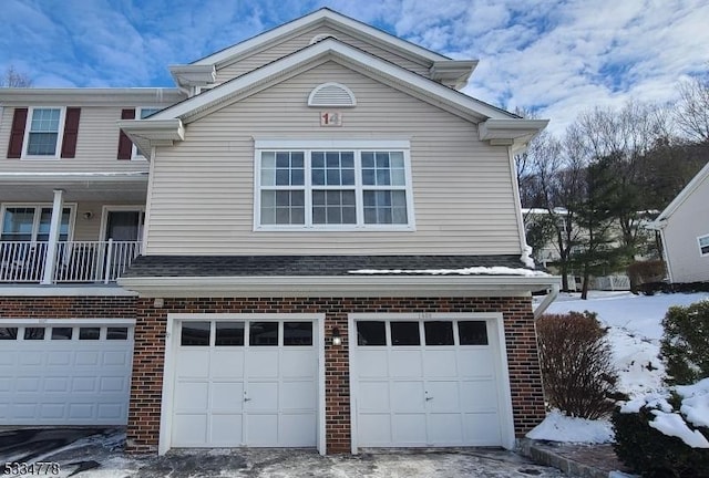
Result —
POLYGON ((667 382, 689 384, 709 376, 709 301, 669 308, 662 329, 667 382))

